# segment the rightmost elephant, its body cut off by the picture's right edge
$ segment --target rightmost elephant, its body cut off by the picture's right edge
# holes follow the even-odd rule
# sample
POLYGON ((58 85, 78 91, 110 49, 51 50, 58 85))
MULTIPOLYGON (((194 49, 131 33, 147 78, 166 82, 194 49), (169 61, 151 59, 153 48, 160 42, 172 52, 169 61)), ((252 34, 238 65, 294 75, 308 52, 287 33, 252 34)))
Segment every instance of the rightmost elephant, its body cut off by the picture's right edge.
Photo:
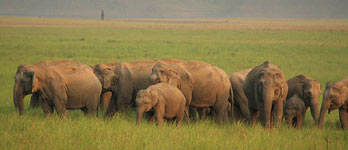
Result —
POLYGON ((328 83, 323 93, 318 125, 321 128, 324 124, 325 113, 338 109, 341 126, 348 129, 348 77, 341 81, 328 83))

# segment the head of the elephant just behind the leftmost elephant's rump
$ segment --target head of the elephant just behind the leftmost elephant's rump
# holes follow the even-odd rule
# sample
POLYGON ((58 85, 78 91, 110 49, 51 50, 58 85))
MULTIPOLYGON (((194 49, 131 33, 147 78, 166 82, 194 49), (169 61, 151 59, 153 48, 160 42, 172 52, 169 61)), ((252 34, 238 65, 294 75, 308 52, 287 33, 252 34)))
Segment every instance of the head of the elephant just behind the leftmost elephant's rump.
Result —
POLYGON ((94 67, 94 74, 102 84, 103 92, 116 91, 118 76, 111 67, 104 64, 98 64, 94 67))

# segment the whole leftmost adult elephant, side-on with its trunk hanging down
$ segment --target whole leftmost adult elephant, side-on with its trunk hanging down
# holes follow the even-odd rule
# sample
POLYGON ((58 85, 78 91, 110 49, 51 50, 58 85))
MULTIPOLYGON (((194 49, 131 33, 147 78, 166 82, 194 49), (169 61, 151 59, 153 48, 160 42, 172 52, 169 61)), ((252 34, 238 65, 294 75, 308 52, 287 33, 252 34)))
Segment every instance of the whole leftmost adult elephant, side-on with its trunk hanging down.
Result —
POLYGON ((69 109, 81 109, 85 114, 96 113, 101 84, 93 70, 73 61, 40 62, 18 66, 13 88, 13 101, 23 115, 23 99, 34 94, 46 115, 53 113, 67 117, 69 109))

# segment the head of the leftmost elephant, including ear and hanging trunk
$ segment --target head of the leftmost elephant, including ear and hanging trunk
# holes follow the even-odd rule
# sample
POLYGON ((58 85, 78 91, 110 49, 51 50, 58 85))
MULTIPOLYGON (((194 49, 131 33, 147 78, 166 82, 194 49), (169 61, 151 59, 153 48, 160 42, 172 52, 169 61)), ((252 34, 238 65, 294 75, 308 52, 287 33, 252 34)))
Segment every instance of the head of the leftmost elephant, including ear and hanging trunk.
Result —
POLYGON ((14 78, 13 102, 20 115, 23 115, 24 111, 24 97, 37 92, 40 87, 38 74, 38 71, 35 71, 33 67, 28 65, 21 65, 17 68, 14 78))

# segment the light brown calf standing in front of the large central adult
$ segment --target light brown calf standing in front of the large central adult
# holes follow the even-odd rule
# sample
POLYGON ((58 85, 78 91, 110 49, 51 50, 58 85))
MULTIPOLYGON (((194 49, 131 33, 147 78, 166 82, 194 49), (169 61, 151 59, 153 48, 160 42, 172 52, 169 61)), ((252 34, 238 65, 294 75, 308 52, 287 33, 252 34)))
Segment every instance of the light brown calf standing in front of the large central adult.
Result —
POLYGON ((136 97, 137 124, 140 124, 144 112, 154 111, 157 125, 165 119, 176 119, 176 125, 180 126, 185 111, 186 99, 181 91, 168 83, 158 83, 145 90, 140 90, 136 97))

